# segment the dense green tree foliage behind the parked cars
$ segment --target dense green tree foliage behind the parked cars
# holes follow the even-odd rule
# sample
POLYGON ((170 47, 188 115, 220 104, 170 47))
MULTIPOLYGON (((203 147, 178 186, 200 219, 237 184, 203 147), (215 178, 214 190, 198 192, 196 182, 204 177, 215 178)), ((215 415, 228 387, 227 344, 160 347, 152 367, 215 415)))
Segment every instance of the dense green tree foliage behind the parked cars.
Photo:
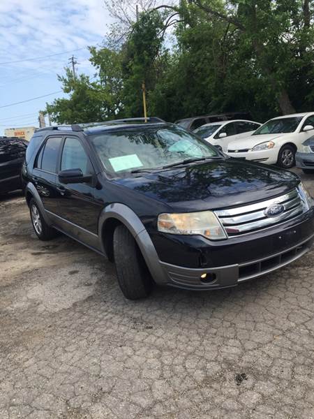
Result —
MULTIPOLYGON (((108 2, 118 15, 126 3, 108 2)), ((170 121, 226 111, 249 111, 264 121, 313 110, 310 0, 142 2, 137 20, 132 2, 133 12, 120 14, 118 47, 89 49, 96 80, 75 80, 68 69, 59 77, 69 98, 47 105, 54 121, 142 116, 143 81, 149 114, 170 121)))

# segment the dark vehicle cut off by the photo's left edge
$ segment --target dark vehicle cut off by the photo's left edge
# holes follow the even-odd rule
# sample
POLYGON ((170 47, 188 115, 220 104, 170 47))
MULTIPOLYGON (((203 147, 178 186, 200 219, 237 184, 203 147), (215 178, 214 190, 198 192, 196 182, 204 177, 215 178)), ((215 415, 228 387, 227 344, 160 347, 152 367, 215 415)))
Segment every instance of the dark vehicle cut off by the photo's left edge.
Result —
POLYGON ((21 168, 27 142, 17 137, 0 137, 0 194, 21 189, 21 168))

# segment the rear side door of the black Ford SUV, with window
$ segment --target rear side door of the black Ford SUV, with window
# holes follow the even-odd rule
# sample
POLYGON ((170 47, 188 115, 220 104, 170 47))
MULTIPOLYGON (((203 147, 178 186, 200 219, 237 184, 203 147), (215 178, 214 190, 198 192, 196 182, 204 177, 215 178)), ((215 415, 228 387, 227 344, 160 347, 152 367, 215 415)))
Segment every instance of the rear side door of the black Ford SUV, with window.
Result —
POLYGON ((52 214, 58 213, 57 163, 61 142, 62 135, 51 135, 43 142, 36 156, 31 177, 45 210, 52 214))

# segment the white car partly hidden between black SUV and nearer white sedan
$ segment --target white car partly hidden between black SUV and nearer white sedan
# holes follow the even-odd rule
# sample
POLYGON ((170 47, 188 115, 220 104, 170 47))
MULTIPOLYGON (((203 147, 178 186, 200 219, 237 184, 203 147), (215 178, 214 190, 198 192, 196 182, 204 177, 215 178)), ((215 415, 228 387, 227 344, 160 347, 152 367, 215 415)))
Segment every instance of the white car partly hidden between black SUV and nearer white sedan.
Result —
POLYGON ((227 145, 230 141, 247 137, 261 125, 259 122, 234 119, 230 122, 211 122, 211 124, 202 125, 200 128, 196 128, 193 133, 215 145, 221 151, 227 152, 227 145))

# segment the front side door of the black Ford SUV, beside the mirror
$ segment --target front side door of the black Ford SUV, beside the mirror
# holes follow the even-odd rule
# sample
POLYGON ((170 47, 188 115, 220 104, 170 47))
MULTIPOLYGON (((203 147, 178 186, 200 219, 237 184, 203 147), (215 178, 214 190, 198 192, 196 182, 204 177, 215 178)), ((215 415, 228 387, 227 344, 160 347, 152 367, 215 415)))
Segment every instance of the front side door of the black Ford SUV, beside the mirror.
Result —
POLYGON ((87 183, 69 184, 63 184, 58 180, 59 211, 63 230, 95 247, 91 235, 98 233, 98 217, 103 201, 98 199, 96 174, 87 147, 83 140, 74 135, 64 138, 59 160, 59 171, 70 169, 81 169, 83 175, 92 175, 92 180, 87 183), (91 235, 85 234, 86 232, 91 235))

